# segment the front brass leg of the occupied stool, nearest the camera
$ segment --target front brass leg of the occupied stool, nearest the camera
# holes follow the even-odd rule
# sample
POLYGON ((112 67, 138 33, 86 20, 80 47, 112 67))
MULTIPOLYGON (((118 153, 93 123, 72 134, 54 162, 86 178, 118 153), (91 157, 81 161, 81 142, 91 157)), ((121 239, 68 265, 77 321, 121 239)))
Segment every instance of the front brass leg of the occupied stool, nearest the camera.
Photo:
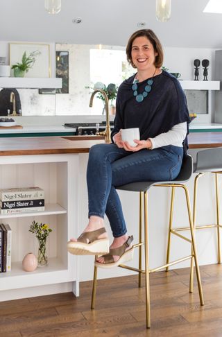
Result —
POLYGON ((144 192, 144 244, 145 244, 145 275, 146 275, 146 327, 151 327, 151 300, 150 300, 150 277, 148 266, 148 210, 147 191, 144 192))

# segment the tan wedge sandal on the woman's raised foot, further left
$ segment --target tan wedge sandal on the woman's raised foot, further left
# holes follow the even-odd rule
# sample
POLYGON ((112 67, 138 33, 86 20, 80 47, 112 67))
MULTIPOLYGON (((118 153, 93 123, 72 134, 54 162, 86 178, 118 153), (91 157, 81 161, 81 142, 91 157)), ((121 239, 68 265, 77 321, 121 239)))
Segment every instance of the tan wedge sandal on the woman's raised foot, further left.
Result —
POLYGON ((105 233, 105 228, 93 230, 92 232, 83 232, 78 236, 77 241, 69 241, 67 249, 74 255, 101 255, 109 252, 109 239, 98 239, 105 233))

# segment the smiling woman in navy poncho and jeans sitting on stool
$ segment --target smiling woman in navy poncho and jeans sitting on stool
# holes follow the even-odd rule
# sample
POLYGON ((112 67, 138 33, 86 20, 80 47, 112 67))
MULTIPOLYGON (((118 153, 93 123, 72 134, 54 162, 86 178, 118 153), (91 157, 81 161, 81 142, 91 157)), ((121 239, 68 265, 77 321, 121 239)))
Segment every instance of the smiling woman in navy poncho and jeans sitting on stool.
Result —
POLYGON ((178 80, 161 69, 160 40, 150 29, 136 31, 128 41, 126 55, 137 72, 119 87, 112 144, 97 144, 89 150, 89 223, 78 239, 68 243, 71 254, 104 254, 96 259, 101 268, 119 266, 133 258, 133 236, 127 234, 115 187, 175 179, 188 147, 187 101, 178 80), (135 147, 121 139, 125 128, 139 128, 135 147), (114 237, 110 248, 105 214, 114 237))

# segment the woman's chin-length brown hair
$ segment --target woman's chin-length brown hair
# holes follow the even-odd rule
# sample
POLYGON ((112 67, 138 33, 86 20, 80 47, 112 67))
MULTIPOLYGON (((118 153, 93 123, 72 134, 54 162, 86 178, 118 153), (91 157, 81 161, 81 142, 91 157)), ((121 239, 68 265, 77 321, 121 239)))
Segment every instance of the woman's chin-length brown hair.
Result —
POLYGON ((158 39, 157 35, 151 31, 151 29, 140 29, 139 31, 136 31, 133 33, 133 35, 130 36, 130 39, 128 40, 128 44, 126 46, 126 56, 128 62, 131 64, 133 68, 136 68, 133 64, 131 51, 132 51, 132 45, 133 41, 140 36, 145 36, 147 39, 153 44, 153 49, 157 53, 155 57, 155 67, 160 68, 162 67, 162 62, 164 60, 164 53, 162 51, 162 44, 160 43, 160 40, 158 39))

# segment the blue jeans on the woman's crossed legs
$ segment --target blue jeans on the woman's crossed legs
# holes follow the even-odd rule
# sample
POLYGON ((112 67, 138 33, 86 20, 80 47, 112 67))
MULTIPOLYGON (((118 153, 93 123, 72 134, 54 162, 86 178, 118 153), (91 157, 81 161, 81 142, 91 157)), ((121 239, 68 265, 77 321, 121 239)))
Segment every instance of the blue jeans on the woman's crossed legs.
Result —
POLYGON ((178 176, 183 148, 163 146, 129 152, 115 144, 97 144, 89 150, 87 189, 89 216, 108 216, 114 237, 126 234, 121 202, 115 187, 139 181, 169 181, 178 176))

